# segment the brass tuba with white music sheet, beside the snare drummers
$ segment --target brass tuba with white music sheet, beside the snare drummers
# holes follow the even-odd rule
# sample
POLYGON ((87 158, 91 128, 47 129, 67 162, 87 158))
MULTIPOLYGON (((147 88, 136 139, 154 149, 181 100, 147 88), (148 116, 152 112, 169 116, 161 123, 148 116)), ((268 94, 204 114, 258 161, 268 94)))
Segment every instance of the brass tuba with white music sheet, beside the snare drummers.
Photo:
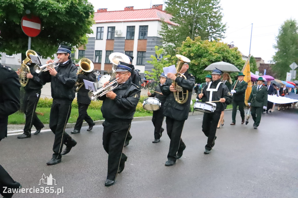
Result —
MULTIPOLYGON (((179 72, 180 72, 182 66, 184 65, 184 63, 190 62, 190 59, 188 59, 185 56, 182 56, 180 54, 176 54, 176 57, 179 59, 177 62, 177 66, 176 66, 176 71, 177 71, 176 76, 177 77, 182 76, 182 78, 186 79, 186 77, 179 72)), ((181 86, 179 86, 176 83, 176 81, 173 81, 173 84, 174 84, 174 89, 176 90, 176 92, 173 92, 173 94, 174 94, 174 98, 177 101, 177 103, 178 104, 186 103, 186 101, 188 99, 188 90, 186 90, 186 93, 184 93, 183 88, 181 86)))

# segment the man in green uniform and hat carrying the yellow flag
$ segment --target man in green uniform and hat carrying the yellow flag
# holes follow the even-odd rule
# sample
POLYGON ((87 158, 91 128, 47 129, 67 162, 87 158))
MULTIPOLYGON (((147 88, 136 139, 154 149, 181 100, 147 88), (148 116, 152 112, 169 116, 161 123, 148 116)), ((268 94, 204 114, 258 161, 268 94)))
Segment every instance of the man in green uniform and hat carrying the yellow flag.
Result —
POLYGON ((242 72, 239 72, 238 74, 238 81, 235 81, 233 84, 233 88, 235 89, 231 90, 231 93, 233 94, 233 111, 232 111, 232 123, 231 125, 235 125, 236 123, 236 113, 237 113, 237 106, 240 111, 241 116, 241 124, 244 123, 244 99, 245 99, 245 91, 247 88, 247 82, 243 80, 245 75, 243 75, 242 72), (235 86, 236 84, 236 86, 235 86))

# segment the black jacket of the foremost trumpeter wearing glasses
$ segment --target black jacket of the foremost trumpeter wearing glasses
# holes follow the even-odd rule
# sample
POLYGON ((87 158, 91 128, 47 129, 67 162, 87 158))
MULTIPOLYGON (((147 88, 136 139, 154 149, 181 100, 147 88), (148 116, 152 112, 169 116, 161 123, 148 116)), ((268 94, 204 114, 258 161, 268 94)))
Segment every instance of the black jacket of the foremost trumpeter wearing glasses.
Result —
POLYGON ((103 100, 101 107, 103 117, 110 123, 131 122, 140 100, 141 90, 129 78, 124 84, 118 85, 112 91, 117 95, 114 100, 105 95, 98 98, 103 100))

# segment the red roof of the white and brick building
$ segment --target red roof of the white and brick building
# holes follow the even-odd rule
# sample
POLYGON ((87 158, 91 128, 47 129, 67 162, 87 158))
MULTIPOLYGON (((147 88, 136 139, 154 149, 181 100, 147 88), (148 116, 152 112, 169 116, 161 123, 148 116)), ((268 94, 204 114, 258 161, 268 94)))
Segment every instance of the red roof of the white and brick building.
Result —
POLYGON ((165 11, 151 8, 140 10, 119 10, 108 12, 95 12, 95 23, 107 23, 107 22, 128 22, 128 21, 162 21, 169 23, 170 25, 178 25, 170 21, 172 15, 167 14, 165 11))

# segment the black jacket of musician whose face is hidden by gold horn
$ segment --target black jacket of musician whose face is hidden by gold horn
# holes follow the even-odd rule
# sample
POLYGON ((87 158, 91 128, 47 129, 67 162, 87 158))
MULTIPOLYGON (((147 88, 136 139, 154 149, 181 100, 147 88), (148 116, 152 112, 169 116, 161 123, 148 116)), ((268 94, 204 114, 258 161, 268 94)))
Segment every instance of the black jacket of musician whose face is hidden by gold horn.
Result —
MULTIPOLYGON (((91 81, 91 82, 96 82, 96 76, 95 74, 92 72, 88 72, 85 74, 79 74, 77 75, 77 78, 83 82, 83 79, 87 80, 87 81, 91 81)), ((90 104, 91 99, 88 97, 88 89, 85 89, 85 85, 83 85, 83 87, 81 87, 79 89, 79 91, 77 92, 77 102, 78 103, 82 103, 82 104, 90 104)))

